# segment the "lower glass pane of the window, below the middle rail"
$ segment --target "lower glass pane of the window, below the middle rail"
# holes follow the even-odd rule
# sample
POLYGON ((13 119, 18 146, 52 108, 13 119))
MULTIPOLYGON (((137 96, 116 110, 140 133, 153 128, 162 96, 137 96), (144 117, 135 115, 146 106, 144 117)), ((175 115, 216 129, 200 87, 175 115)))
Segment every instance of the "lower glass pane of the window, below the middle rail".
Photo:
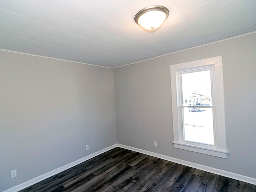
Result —
POLYGON ((184 140, 214 145, 212 108, 183 108, 184 140))

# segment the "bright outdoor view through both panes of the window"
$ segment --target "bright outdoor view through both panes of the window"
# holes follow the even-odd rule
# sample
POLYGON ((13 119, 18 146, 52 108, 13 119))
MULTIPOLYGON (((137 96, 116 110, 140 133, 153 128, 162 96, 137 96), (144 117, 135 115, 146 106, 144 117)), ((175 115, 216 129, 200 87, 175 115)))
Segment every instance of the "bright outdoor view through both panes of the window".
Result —
POLYGON ((211 71, 184 73, 181 79, 184 140, 214 145, 211 71))

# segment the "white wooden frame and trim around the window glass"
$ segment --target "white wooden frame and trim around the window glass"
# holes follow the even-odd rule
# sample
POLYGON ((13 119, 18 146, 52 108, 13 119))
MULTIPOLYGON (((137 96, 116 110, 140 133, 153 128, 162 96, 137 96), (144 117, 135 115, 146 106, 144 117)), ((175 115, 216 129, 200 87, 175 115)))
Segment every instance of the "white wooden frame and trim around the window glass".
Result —
POLYGON ((222 72, 222 56, 212 57, 192 62, 180 63, 170 66, 171 90, 172 90, 172 116, 174 148, 189 150, 211 156, 227 158, 229 153, 226 148, 226 129, 224 112, 224 88, 222 72), (182 120, 182 94, 180 86, 180 73, 210 68, 212 70, 212 103, 214 116, 214 145, 189 142, 184 140, 182 120))

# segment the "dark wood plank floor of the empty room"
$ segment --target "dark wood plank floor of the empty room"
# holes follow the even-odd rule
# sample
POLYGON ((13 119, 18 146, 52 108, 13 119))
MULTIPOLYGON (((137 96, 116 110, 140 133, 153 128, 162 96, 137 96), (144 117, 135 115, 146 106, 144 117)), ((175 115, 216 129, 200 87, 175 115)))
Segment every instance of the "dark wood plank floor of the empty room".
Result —
POLYGON ((114 148, 20 192, 256 192, 256 186, 114 148))

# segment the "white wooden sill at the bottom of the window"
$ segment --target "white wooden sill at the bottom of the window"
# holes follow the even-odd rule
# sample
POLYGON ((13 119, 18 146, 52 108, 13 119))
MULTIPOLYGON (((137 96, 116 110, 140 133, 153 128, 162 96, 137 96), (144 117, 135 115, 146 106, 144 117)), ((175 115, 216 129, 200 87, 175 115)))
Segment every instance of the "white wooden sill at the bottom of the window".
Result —
POLYGON ((183 150, 193 151, 197 153, 207 154, 211 156, 221 157, 221 158, 227 158, 228 151, 226 150, 220 150, 220 149, 212 149, 212 148, 206 148, 202 146, 196 146, 192 144, 185 144, 180 142, 172 142, 174 144, 174 148, 179 148, 183 150))

